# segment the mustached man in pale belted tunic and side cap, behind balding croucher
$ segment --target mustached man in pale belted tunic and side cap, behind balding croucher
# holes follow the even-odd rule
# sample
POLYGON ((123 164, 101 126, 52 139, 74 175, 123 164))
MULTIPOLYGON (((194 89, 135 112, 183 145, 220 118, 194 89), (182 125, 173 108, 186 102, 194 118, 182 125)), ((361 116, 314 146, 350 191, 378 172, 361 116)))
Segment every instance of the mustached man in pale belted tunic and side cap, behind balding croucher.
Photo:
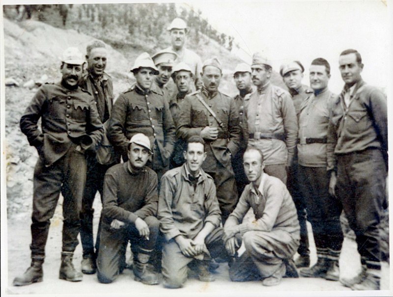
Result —
POLYGON ((245 99, 249 146, 262 151, 265 172, 286 184, 298 136, 296 111, 289 93, 270 83, 272 65, 266 58, 253 54, 251 70, 257 90, 245 99))

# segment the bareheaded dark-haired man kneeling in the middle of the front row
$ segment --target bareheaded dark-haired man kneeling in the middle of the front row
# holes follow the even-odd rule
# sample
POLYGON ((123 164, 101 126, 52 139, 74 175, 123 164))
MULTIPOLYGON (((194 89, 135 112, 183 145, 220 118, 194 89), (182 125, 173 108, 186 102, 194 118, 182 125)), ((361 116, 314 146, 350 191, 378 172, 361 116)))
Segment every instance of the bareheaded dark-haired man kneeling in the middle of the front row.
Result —
POLYGON ((189 264, 199 280, 213 281, 208 270, 210 256, 226 257, 216 186, 201 169, 206 159, 204 146, 203 138, 191 136, 185 164, 169 170, 161 180, 158 218, 166 239, 162 273, 168 288, 183 286, 189 264))

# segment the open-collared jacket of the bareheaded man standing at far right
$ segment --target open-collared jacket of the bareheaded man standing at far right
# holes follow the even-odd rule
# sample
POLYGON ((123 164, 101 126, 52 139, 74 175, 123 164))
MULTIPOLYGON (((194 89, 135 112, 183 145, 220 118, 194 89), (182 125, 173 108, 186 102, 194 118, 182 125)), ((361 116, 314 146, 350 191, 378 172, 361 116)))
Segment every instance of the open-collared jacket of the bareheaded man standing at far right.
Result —
POLYGON ((382 91, 357 82, 353 97, 347 108, 344 91, 334 102, 329 123, 328 153, 347 154, 368 148, 382 150, 388 166, 388 110, 382 91), (330 141, 329 141, 330 140, 330 141))

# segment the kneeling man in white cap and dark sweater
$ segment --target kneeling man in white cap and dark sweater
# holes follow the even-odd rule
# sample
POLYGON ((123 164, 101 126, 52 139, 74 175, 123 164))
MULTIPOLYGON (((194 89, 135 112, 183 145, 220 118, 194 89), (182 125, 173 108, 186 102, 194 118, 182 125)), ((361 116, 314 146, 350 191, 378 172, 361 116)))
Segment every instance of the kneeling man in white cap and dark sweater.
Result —
POLYGON ((151 154, 149 138, 135 134, 128 145, 128 161, 105 174, 97 257, 97 276, 102 283, 111 283, 121 272, 128 241, 134 254, 135 280, 146 285, 159 283, 158 276, 147 270, 159 231, 157 174, 145 166, 151 154))

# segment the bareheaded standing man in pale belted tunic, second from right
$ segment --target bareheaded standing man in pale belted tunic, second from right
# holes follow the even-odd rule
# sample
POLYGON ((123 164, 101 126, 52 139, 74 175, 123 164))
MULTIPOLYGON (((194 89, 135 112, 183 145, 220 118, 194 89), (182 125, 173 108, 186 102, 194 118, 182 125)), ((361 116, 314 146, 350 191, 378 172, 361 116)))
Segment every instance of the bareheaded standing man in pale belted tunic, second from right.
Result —
POLYGON ((298 180, 307 201, 318 261, 311 268, 301 270, 300 274, 338 280, 338 259, 343 241, 340 225, 342 206, 329 193, 333 161, 328 159, 326 150, 330 107, 336 96, 328 89, 330 65, 327 60, 314 59, 309 71, 314 93, 302 103, 298 115, 298 180))

